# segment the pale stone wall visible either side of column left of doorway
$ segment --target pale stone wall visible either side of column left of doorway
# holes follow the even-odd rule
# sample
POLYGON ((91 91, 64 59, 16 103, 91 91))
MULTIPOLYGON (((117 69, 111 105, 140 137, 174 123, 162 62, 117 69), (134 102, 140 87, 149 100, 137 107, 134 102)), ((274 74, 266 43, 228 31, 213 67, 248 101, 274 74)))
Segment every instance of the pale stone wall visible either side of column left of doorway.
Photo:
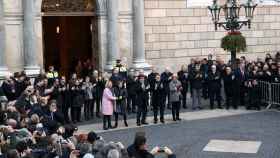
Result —
MULTIPOLYGON (((22 71, 24 68, 24 44, 23 44, 23 8, 22 0, 4 0, 5 29, 6 29, 6 63, 10 72, 22 71)), ((41 0, 36 0, 36 45, 37 60, 43 67, 42 52, 42 23, 41 0)))

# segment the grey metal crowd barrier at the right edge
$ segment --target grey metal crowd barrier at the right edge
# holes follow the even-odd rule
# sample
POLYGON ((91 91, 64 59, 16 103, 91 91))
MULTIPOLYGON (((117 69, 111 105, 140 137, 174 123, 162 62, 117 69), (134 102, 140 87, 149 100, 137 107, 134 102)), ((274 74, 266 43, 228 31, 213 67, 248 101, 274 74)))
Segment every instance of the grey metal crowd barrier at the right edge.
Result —
POLYGON ((262 103, 267 103, 267 109, 272 105, 280 105, 280 83, 270 83, 266 81, 258 81, 261 91, 262 103))

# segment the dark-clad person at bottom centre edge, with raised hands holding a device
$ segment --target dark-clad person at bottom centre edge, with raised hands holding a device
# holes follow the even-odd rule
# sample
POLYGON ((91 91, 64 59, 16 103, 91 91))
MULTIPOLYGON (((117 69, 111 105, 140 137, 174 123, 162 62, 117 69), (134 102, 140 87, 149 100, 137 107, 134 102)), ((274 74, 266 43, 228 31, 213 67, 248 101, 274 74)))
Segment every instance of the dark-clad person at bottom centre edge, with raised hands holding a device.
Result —
POLYGON ((176 155, 168 147, 154 147, 151 152, 147 149, 145 133, 136 133, 134 143, 127 148, 130 158, 154 158, 156 155, 164 154, 167 158, 176 158, 176 155))

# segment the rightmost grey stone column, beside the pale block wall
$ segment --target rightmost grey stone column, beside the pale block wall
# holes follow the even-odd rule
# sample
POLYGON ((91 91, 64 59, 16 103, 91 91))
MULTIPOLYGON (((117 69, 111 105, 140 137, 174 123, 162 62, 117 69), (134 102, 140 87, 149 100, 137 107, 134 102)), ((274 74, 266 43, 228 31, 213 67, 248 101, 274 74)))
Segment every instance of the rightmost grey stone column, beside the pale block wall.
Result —
POLYGON ((148 70, 145 59, 144 0, 133 0, 133 67, 148 70))

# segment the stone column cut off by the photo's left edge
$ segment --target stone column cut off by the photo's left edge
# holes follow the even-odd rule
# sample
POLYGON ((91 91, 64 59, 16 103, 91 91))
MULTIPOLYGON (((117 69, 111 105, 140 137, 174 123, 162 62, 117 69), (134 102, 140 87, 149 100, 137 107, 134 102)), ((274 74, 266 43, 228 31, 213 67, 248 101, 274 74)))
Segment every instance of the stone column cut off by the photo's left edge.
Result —
POLYGON ((5 55, 5 19, 4 19, 4 3, 0 0, 0 79, 8 73, 5 55))

